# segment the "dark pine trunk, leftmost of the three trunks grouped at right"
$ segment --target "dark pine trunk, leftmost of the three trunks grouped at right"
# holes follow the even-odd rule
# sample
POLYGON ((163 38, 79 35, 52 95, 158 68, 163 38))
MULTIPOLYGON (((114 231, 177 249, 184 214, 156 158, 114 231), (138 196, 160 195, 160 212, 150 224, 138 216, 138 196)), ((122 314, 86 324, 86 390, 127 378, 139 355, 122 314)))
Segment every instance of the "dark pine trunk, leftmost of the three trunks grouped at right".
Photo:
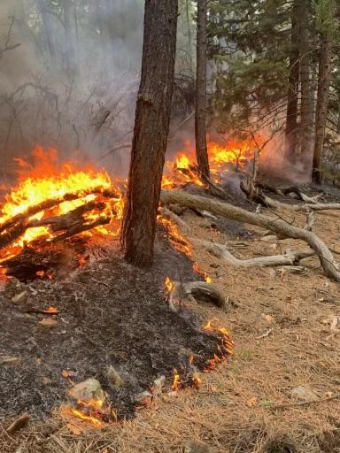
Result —
POLYGON ((287 102, 286 120, 286 157, 292 163, 296 163, 298 148, 298 85, 299 85, 299 12, 300 5, 295 0, 291 12, 291 32, 290 32, 290 75, 287 102))

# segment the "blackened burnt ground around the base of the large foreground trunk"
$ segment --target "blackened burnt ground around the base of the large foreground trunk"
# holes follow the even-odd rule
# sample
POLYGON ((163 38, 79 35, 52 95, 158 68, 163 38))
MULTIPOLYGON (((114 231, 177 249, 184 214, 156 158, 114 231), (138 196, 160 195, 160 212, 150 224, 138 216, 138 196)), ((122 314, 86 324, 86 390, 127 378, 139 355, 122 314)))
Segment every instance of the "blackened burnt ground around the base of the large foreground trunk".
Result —
MULTIPOLYGON (((199 280, 187 257, 158 234, 155 265, 150 271, 125 263, 112 250, 68 279, 34 280, 0 296, 0 415, 24 411, 43 417, 66 402, 71 381, 100 381, 119 418, 131 418, 138 395, 173 371, 189 376, 189 356, 204 368, 219 339, 201 330, 206 319, 187 309, 169 311, 164 282, 199 280), (108 256, 110 255, 110 256, 108 256), (24 303, 12 303, 23 290, 24 303), (42 326, 48 315, 35 313, 50 305, 57 325, 42 326), (124 384, 108 376, 113 366, 124 384), (62 376, 67 371, 70 378, 62 376)), ((13 281, 13 280, 12 280, 13 281)), ((15 280, 14 280, 15 281, 15 280)), ((18 281, 18 280, 17 280, 18 281)), ((52 318, 52 317, 50 317, 52 318)), ((189 380, 189 377, 188 377, 189 380)), ((189 381, 188 381, 189 384, 189 381)))

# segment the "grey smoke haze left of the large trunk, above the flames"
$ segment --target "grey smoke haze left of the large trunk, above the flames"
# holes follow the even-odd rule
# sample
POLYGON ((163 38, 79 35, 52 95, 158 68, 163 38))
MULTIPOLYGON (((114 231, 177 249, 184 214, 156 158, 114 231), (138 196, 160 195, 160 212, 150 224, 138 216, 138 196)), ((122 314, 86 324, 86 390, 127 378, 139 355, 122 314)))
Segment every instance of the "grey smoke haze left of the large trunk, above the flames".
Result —
POLYGON ((3 180, 36 144, 123 171, 128 149, 116 148, 133 130, 143 2, 2 0, 0 50, 15 44, 0 65, 3 180))

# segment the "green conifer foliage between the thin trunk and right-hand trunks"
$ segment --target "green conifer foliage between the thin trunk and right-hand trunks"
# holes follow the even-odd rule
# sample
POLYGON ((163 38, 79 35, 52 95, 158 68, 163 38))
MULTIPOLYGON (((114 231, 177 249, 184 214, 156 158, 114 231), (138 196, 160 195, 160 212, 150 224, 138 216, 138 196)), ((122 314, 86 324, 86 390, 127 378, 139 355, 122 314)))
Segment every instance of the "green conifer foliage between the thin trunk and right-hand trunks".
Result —
POLYGON ((287 94, 290 6, 284 0, 213 1, 209 33, 215 108, 232 127, 262 117, 287 94))

